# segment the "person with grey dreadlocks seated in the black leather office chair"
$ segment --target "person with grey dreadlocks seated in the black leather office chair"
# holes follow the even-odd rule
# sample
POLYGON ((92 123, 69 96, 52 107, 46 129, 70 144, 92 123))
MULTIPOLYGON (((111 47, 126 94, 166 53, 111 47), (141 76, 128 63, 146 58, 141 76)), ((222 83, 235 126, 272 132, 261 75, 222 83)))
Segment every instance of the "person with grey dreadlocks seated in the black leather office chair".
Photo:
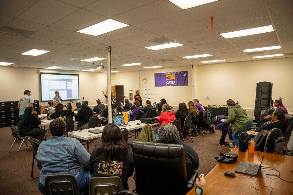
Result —
POLYGON ((159 128, 159 138, 160 139, 154 141, 154 143, 183 145, 187 177, 190 175, 190 172, 199 167, 199 158, 196 151, 190 145, 180 141, 179 133, 175 125, 164 123, 159 128))

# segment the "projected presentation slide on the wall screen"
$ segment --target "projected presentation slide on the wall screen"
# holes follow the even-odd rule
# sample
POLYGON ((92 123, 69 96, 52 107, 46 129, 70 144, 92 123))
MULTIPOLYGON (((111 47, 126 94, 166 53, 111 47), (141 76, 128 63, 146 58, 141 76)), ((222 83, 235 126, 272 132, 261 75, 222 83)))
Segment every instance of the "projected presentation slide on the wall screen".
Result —
POLYGON ((52 101, 55 91, 62 100, 78 100, 78 75, 41 73, 42 101, 52 101))

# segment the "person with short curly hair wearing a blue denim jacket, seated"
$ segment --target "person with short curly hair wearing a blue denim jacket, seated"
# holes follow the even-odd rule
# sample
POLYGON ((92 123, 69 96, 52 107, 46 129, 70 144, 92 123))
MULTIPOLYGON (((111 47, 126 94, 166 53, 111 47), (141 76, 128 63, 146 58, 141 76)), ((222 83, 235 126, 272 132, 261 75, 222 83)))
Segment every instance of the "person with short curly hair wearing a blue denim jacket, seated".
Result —
POLYGON ((65 136, 66 123, 55 119, 50 123, 52 137, 38 147, 37 165, 41 170, 39 190, 45 194, 45 177, 48 175, 73 175, 77 181, 80 193, 89 186, 92 175, 87 170, 89 153, 74 138, 65 136))

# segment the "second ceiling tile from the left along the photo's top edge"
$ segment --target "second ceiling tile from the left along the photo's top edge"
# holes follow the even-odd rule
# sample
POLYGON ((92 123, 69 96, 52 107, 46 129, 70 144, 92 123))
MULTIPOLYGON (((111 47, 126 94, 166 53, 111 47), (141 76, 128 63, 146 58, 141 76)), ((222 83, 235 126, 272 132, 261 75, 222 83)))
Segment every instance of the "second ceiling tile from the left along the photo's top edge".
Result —
POLYGON ((77 7, 59 1, 40 0, 18 16, 18 18, 50 25, 76 10, 78 10, 77 7))

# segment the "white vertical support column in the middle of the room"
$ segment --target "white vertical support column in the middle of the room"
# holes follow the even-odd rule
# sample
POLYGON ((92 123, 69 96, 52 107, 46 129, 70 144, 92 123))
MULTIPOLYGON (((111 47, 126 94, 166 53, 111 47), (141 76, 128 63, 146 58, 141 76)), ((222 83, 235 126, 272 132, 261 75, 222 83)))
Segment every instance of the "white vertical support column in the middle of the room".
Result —
POLYGON ((107 96, 108 96, 108 123, 112 123, 112 100, 111 100, 111 47, 106 48, 107 60, 107 96))

